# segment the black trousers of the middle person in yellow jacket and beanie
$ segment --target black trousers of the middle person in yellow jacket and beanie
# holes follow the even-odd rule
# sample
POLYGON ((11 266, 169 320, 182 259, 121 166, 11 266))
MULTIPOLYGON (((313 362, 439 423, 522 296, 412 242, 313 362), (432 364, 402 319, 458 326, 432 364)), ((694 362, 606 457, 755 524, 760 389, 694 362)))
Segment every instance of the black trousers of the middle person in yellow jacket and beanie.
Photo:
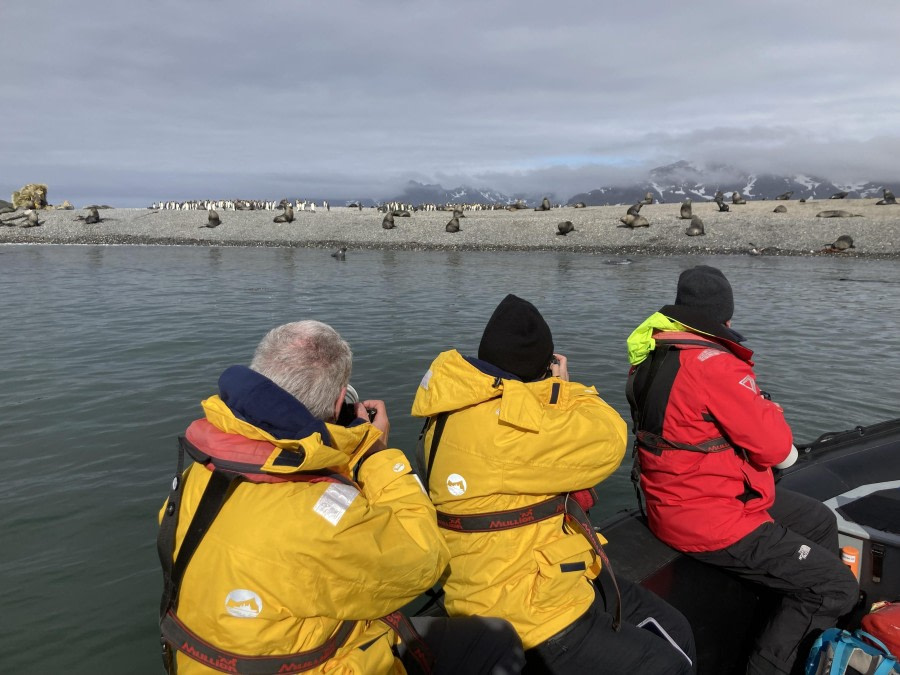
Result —
POLYGON ((681 675, 697 663, 694 633, 682 614, 665 600, 617 577, 622 594, 622 626, 613 630, 615 591, 604 572, 595 581, 597 594, 587 612, 568 628, 525 652, 523 673, 536 675, 681 675), (637 624, 653 617, 684 651, 637 624))

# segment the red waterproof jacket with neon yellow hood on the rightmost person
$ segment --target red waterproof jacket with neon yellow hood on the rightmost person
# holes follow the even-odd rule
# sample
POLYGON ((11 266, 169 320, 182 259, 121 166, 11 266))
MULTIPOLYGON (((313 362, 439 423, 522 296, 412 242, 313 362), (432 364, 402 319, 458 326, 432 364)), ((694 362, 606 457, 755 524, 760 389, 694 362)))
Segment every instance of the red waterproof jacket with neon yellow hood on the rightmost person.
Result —
POLYGON ((680 551, 715 551, 771 522, 771 467, 790 453, 792 435, 781 407, 756 384, 753 352, 661 313, 632 333, 629 352, 641 487, 654 534, 680 551))

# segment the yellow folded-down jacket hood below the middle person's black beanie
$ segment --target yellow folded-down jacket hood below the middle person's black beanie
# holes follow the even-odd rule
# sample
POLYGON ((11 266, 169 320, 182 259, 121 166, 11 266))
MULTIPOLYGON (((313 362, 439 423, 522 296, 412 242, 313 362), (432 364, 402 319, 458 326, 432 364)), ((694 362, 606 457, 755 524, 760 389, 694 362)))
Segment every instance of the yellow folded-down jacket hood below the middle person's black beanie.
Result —
POLYGON ((522 382, 455 349, 434 360, 416 390, 412 414, 431 417, 500 398, 500 421, 520 429, 538 431, 544 416, 541 396, 549 397, 556 378, 522 382), (546 392, 544 392, 546 390, 546 392))

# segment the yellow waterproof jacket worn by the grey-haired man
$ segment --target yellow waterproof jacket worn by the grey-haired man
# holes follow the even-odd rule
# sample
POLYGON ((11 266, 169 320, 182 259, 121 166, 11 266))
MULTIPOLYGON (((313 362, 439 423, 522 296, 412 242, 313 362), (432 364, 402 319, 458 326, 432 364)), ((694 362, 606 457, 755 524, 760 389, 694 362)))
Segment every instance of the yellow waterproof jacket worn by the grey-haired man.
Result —
MULTIPOLYGON (((240 452, 302 450, 294 471, 349 468, 380 436, 372 425, 325 425, 302 439, 277 439, 238 419, 218 396, 203 402, 205 420, 187 438, 198 447, 240 452)), ((277 470, 277 469, 273 469, 277 470)), ((290 654, 321 646, 341 621, 356 621, 349 639, 315 673, 404 673, 391 652, 397 639, 381 616, 430 588, 449 554, 434 507, 400 450, 368 458, 358 489, 336 482, 240 482, 191 560, 177 614, 219 649, 243 655, 290 654)), ((211 472, 186 472, 176 555, 211 472)), ((162 516, 162 512, 160 513, 162 516)), ((212 669, 178 653, 178 672, 212 669)))

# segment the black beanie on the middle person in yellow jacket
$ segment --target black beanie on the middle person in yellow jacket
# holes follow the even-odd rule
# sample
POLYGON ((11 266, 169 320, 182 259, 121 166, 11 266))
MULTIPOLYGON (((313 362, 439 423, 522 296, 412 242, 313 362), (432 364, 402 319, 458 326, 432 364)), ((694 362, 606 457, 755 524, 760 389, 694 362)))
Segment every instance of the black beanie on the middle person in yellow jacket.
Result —
POLYGON ((512 294, 503 298, 484 327, 478 358, 531 382, 552 357, 553 336, 537 307, 512 294))

